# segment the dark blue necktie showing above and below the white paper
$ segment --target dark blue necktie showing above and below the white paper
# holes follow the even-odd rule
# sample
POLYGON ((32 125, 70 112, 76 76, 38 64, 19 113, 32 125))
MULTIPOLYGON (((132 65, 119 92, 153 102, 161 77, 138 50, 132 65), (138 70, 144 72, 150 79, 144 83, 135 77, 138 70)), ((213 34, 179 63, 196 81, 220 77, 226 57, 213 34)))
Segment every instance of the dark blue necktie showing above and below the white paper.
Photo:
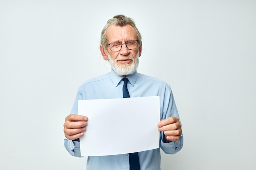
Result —
MULTIPOLYGON (((123 98, 130 97, 129 91, 127 89, 128 78, 123 78, 124 86, 123 86, 123 98)), ((138 152, 129 153, 129 162, 130 162, 130 170, 140 170, 139 167, 139 155, 138 152)))

